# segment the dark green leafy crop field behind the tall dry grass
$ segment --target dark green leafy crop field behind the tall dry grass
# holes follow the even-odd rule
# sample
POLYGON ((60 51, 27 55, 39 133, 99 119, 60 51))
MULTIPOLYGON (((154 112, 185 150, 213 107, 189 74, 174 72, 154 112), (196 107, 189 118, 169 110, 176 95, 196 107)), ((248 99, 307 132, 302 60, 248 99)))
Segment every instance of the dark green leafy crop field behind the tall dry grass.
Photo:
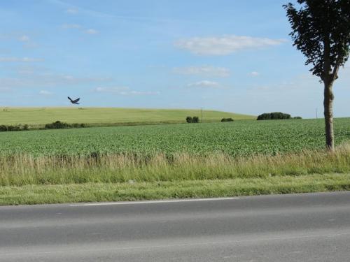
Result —
MULTIPOLYGON (((324 146, 323 119, 231 123, 113 126, 0 133, 0 154, 153 154, 213 152, 244 157, 318 150, 324 146)), ((336 143, 350 140, 350 119, 335 119, 336 143)))

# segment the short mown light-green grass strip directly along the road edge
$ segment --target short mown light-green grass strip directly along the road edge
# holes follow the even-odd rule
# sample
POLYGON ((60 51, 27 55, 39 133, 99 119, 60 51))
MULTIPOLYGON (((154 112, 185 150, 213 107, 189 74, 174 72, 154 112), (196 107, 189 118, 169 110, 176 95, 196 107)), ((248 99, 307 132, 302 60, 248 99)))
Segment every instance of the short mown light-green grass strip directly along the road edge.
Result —
POLYGON ((137 201, 350 190, 350 174, 0 187, 0 205, 137 201))

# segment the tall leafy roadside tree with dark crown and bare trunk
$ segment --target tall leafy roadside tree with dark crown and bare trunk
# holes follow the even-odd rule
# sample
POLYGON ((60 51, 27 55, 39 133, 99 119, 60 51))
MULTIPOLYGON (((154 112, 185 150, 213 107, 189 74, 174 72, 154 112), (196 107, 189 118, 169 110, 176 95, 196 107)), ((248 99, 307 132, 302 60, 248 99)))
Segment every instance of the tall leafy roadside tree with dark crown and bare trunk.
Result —
POLYGON ((283 6, 292 27, 293 45, 311 65, 310 71, 321 78, 324 85, 325 143, 334 150, 333 92, 340 66, 349 58, 350 0, 297 0, 283 6))

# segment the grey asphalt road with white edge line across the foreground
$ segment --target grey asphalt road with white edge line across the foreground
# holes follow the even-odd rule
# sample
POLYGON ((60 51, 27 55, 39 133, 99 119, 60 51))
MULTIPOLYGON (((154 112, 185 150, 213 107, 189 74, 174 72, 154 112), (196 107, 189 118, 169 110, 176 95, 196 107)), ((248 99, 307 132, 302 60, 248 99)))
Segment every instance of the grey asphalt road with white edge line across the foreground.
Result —
POLYGON ((350 261, 350 192, 0 207, 0 261, 350 261))

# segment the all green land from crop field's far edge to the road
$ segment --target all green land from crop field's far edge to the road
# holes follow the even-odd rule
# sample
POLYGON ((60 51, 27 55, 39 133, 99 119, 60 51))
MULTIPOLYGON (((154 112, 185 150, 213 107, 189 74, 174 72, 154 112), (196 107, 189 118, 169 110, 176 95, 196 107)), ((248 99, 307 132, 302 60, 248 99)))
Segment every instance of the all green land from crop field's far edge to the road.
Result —
POLYGON ((0 205, 350 189, 350 118, 0 133, 0 205))

